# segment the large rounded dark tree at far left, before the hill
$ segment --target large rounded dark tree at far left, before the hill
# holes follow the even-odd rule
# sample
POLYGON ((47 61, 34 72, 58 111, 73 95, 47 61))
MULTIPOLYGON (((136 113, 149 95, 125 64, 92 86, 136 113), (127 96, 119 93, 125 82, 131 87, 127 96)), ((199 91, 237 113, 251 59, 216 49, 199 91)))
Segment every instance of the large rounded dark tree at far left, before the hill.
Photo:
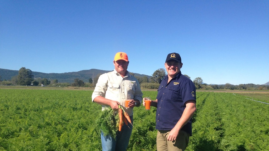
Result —
POLYGON ((19 74, 17 76, 17 84, 18 85, 31 85, 33 78, 32 71, 30 69, 26 69, 25 67, 20 68, 19 74))

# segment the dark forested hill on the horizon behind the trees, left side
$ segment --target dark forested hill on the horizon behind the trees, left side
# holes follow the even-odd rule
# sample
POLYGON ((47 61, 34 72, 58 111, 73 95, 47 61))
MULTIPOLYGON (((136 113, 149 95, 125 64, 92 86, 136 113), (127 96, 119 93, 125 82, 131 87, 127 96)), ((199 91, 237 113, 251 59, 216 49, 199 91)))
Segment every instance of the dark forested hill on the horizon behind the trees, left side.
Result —
MULTIPOLYGON (((30 69, 31 70, 31 69, 30 69)), ((112 71, 112 70, 111 70, 112 71)), ((32 71, 32 74, 34 75, 34 78, 50 78, 51 80, 57 79, 59 83, 73 83, 74 79, 79 78, 80 80, 84 82, 89 82, 90 78, 93 78, 99 74, 107 73, 110 71, 106 70, 99 70, 99 69, 90 69, 90 70, 81 70, 78 72, 68 72, 68 73, 42 73, 42 72, 34 72, 32 71)), ((0 76, 1 80, 11 80, 13 76, 17 76, 19 73, 19 70, 8 70, 8 69, 1 69, 0 68, 0 76)), ((148 78, 151 76, 134 73, 135 76, 138 77, 144 77, 147 76, 148 78)))

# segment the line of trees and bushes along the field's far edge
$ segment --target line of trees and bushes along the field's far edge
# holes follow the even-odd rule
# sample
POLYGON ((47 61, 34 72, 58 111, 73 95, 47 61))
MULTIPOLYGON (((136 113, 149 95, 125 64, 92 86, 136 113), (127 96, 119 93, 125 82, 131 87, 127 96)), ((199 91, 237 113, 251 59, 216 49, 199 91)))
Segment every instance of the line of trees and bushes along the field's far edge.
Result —
MULTIPOLYGON (((134 73, 131 75, 135 76, 134 73)), ((50 78, 34 78, 32 71, 25 67, 20 68, 17 76, 11 78, 11 80, 1 80, 0 76, 0 85, 22 85, 22 86, 56 86, 56 87, 95 87, 97 80, 101 74, 91 75, 88 82, 84 82, 83 80, 76 78, 73 83, 58 83, 57 79, 50 78)), ((190 78, 188 75, 184 74, 186 77, 190 78)), ((166 72, 163 68, 160 68, 152 74, 152 77, 148 78, 147 76, 135 76, 138 82, 140 83, 141 88, 145 89, 157 89, 159 84, 166 76, 166 72)), ((226 83, 223 85, 213 85, 213 84, 205 84, 203 83, 203 79, 200 77, 194 78, 193 83, 196 89, 230 89, 230 90, 269 90, 269 86, 267 85, 256 85, 256 84, 239 84, 232 85, 230 83, 226 83)))

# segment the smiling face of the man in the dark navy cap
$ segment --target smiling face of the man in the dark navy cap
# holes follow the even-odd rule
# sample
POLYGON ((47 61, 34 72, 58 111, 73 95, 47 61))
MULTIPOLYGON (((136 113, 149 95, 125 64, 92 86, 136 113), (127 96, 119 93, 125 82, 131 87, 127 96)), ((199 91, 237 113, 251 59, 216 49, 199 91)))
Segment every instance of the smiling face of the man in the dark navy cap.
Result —
POLYGON ((180 72, 182 63, 179 63, 175 60, 169 60, 164 64, 164 66, 166 68, 168 76, 174 78, 180 72))

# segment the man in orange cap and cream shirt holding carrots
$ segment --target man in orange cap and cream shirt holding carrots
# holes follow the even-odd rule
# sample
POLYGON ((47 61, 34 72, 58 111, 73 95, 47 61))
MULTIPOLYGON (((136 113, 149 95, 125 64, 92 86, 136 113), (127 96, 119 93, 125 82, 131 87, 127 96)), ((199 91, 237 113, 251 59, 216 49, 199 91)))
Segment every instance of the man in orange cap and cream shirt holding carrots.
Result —
MULTIPOLYGON (((143 93, 138 80, 127 71, 129 65, 127 54, 124 52, 116 53, 113 63, 114 71, 100 75, 92 93, 92 101, 101 104, 102 109, 110 106, 117 110, 118 105, 123 106, 133 123, 133 108, 141 105, 143 93), (131 101, 128 104, 129 108, 125 108, 125 100, 128 95, 131 101)), ((115 139, 109 135, 104 136, 101 132, 103 151, 126 150, 133 129, 131 124, 128 126, 123 125, 122 130, 117 132, 115 139)))

